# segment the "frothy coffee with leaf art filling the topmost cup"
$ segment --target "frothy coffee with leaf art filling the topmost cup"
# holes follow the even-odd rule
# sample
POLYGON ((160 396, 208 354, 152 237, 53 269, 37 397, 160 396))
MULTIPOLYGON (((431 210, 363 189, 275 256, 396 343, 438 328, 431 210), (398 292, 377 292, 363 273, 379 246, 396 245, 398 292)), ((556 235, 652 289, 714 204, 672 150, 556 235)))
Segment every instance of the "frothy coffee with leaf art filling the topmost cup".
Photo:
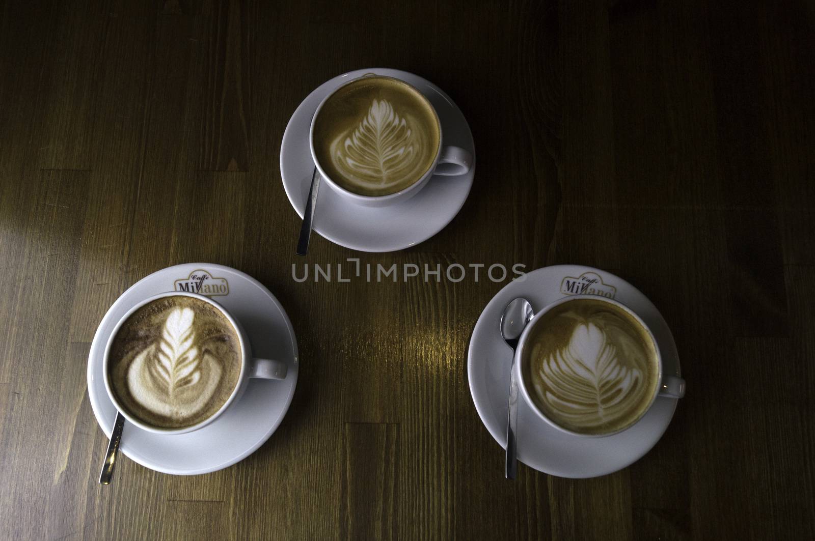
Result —
POLYGON ((362 196, 385 196, 416 183, 433 165, 440 139, 430 102, 392 77, 342 86, 314 125, 319 165, 335 183, 362 196))

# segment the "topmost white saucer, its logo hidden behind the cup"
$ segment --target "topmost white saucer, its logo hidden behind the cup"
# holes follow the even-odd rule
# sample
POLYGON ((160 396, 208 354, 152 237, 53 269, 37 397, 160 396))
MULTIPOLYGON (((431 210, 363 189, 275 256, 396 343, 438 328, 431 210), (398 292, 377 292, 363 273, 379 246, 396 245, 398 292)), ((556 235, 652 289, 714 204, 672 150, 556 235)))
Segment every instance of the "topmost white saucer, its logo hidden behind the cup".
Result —
POLYGON ((442 123, 443 145, 464 148, 473 155, 469 173, 457 177, 430 178, 416 196, 383 208, 363 207, 341 199, 321 183, 314 215, 314 230, 333 243, 363 252, 393 252, 419 244, 442 231, 456 216, 469 194, 475 174, 475 145, 469 125, 450 96, 421 77, 387 68, 358 69, 324 82, 300 103, 280 145, 280 176, 294 210, 302 218, 314 161, 309 150, 311 117, 332 90, 365 73, 377 73, 407 81, 433 103, 442 123))

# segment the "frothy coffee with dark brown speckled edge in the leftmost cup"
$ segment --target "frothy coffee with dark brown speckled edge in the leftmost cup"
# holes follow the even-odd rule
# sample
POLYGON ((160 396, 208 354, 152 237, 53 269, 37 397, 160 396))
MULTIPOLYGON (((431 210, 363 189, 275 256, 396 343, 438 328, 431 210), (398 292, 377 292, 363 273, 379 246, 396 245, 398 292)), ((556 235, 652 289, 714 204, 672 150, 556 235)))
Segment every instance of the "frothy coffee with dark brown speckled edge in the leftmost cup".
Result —
POLYGON ((227 402, 240 367, 240 340, 229 320, 208 302, 176 295, 149 302, 122 323, 108 380, 130 415, 181 429, 227 402))

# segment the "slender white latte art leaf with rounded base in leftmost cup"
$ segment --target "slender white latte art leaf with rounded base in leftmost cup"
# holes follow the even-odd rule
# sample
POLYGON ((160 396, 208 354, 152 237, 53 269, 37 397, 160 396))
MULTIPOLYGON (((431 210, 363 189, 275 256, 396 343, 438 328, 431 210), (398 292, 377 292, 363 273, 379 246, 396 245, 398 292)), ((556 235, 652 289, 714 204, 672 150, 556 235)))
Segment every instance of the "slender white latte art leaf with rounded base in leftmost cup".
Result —
POLYGON ((184 419, 201 411, 218 387, 222 369, 196 348, 195 312, 176 308, 165 320, 161 339, 136 354, 127 371, 130 394, 161 416, 184 419))

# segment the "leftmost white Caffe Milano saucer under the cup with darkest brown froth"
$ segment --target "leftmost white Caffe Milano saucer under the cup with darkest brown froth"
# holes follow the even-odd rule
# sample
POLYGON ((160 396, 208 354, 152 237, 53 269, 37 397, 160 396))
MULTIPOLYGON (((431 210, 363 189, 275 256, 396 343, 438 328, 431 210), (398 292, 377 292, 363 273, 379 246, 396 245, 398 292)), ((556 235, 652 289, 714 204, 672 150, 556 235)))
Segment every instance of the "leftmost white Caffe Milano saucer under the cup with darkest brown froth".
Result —
POLYGON ((186 263, 154 272, 113 303, 90 345, 88 395, 96 420, 108 438, 116 417, 102 374, 108 336, 118 319, 142 299, 155 293, 184 290, 209 295, 235 315, 249 335, 253 354, 289 364, 285 380, 250 380, 238 402, 195 432, 168 436, 125 424, 121 451, 131 460, 159 472, 193 475, 227 468, 245 459, 269 439, 292 402, 298 360, 297 341, 289 316, 258 280, 228 266, 209 263, 186 263), (200 288, 196 284, 200 284, 200 288), (206 452, 201 452, 202 449, 206 452))

